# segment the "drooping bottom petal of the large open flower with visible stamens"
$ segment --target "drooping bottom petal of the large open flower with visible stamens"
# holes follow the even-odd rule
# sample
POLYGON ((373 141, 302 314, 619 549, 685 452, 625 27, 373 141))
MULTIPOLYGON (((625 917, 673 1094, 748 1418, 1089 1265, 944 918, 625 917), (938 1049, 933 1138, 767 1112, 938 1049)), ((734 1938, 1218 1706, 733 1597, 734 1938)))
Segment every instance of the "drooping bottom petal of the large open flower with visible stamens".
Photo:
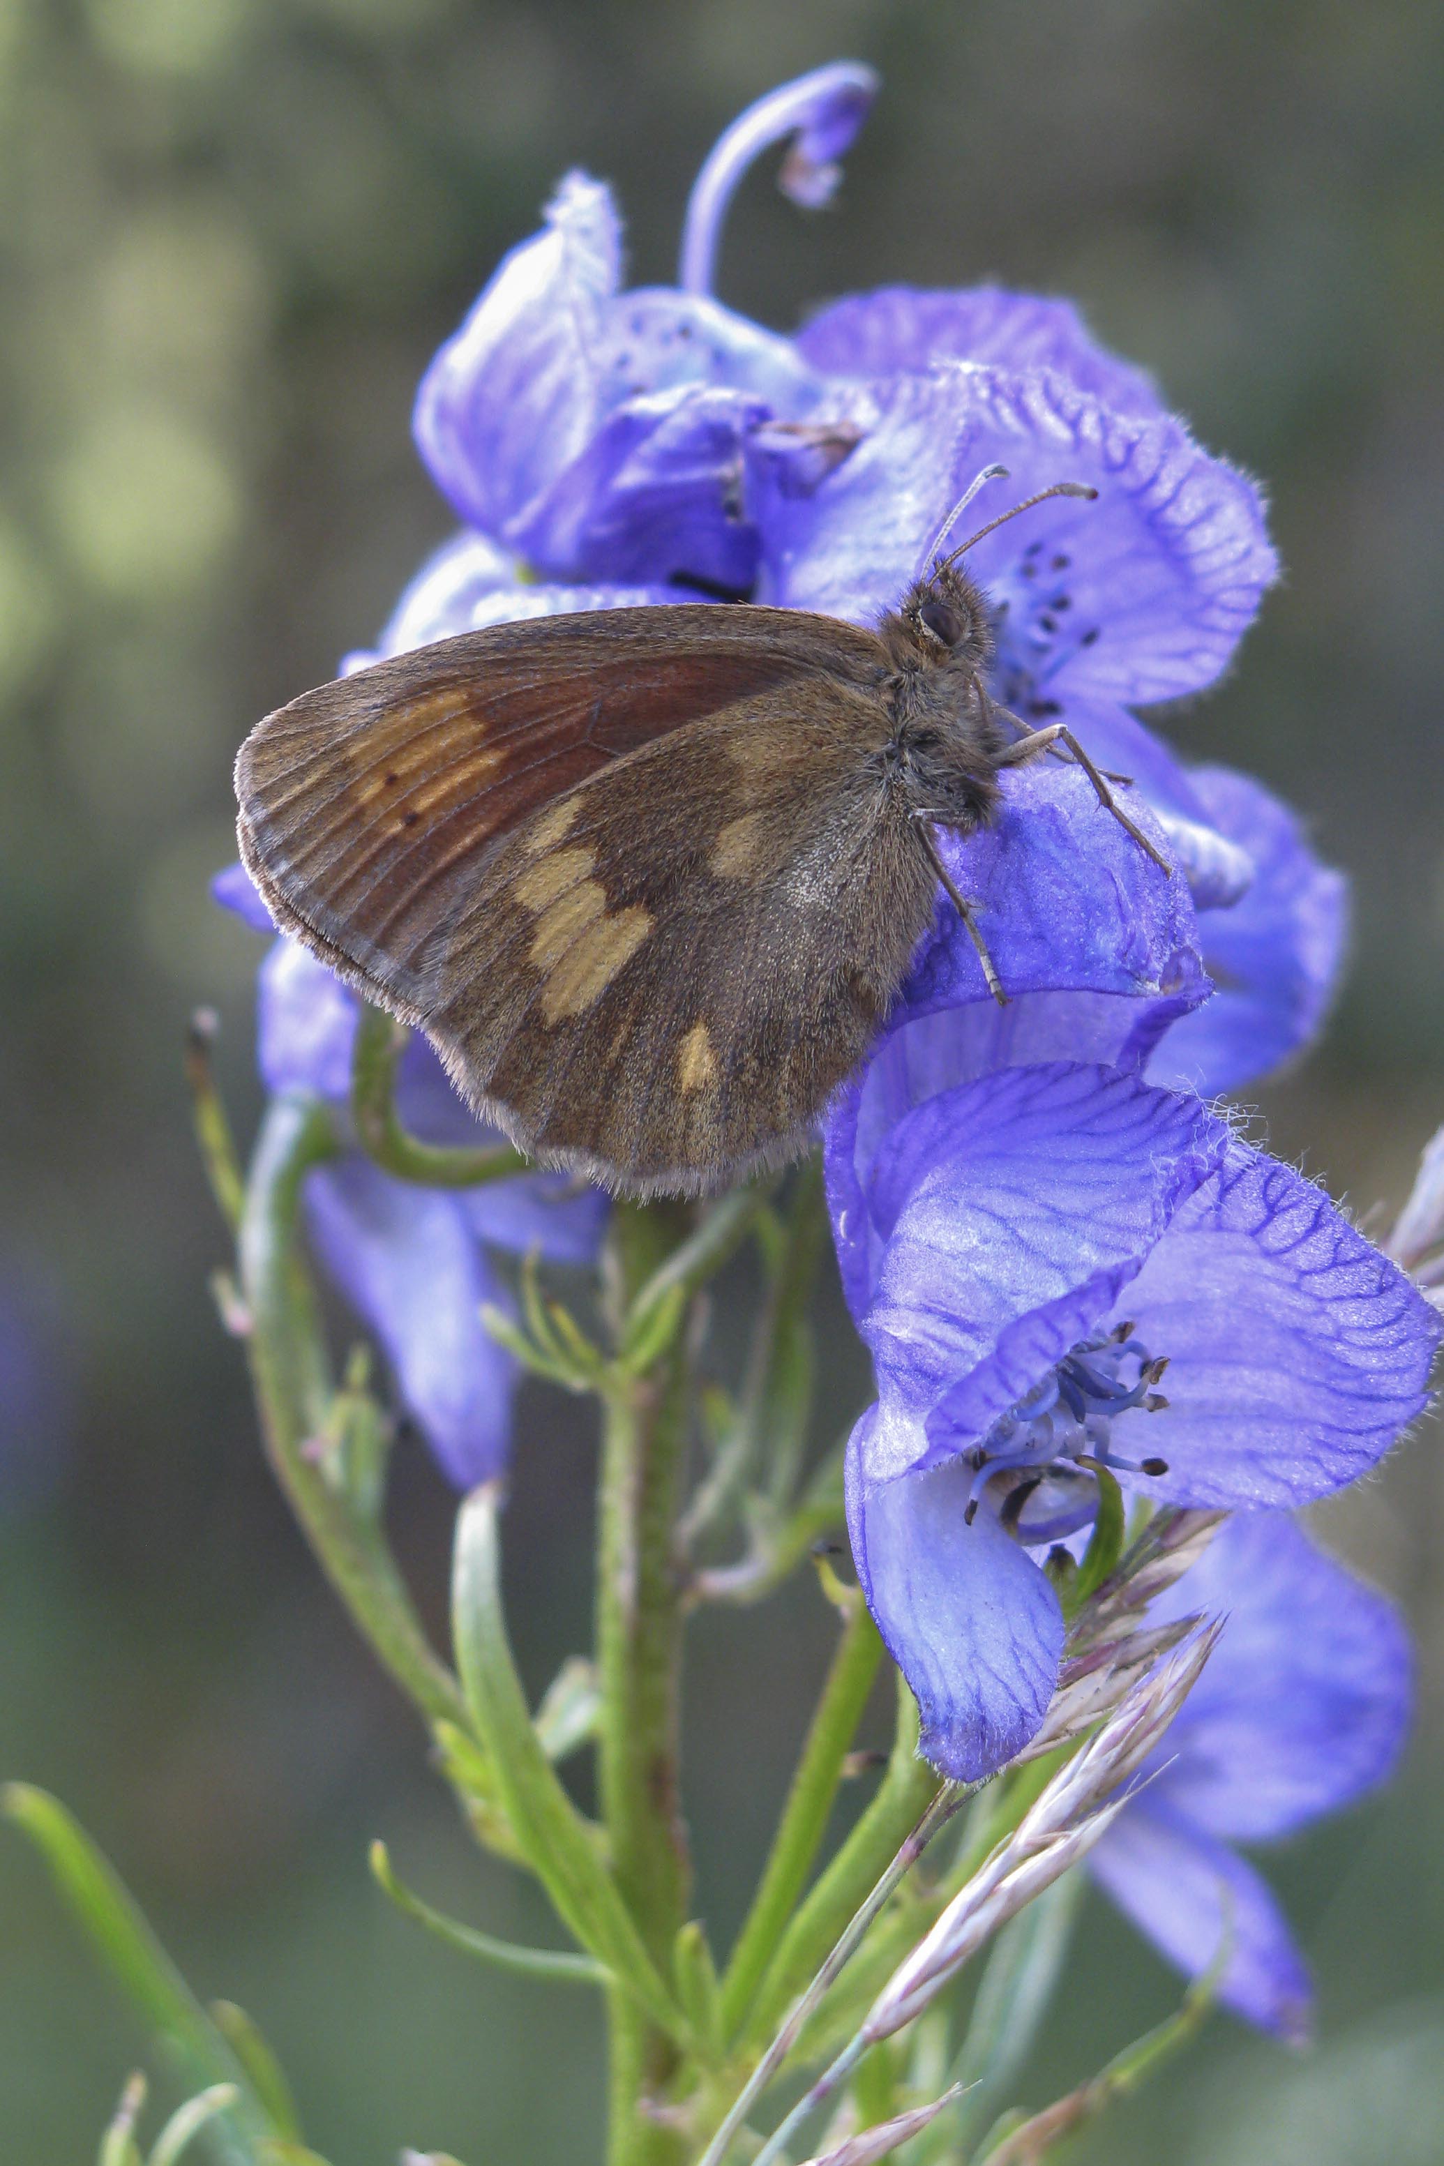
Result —
MULTIPOLYGON (((857 1579, 918 1700, 920 1752, 955 1780, 974 1783, 1022 1750, 1043 1720, 1063 1612, 992 1512, 963 1525, 968 1466, 877 1479, 879 1425, 881 1410, 868 1408, 849 1443, 857 1579)), ((896 1462, 905 1451, 894 1438, 881 1458, 896 1462)))

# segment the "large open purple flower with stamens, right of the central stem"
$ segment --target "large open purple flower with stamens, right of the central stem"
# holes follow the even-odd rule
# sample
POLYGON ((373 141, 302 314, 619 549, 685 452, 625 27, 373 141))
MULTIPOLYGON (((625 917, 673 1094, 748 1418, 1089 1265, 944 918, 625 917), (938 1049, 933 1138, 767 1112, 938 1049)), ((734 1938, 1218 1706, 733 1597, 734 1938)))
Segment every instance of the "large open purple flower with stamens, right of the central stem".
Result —
POLYGON ((1295 1508, 1425 1406, 1440 1321, 1409 1280, 1137 1072, 996 1068, 853 1144, 844 1178, 877 1371, 849 1445, 853 1555, 950 1776, 998 1767, 1043 1718, 1063 1616, 1039 1555, 1093 1516, 1080 1458, 1156 1501, 1295 1508))

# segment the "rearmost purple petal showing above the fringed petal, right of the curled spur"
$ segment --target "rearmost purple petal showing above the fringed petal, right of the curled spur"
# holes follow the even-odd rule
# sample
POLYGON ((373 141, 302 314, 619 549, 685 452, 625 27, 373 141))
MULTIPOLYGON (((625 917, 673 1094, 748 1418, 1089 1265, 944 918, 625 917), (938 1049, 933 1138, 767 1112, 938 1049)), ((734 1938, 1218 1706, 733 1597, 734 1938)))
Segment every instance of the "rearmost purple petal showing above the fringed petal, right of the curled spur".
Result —
POLYGON ((838 377, 918 375, 935 362, 1052 368, 1115 414, 1160 414, 1152 379, 1089 334, 1072 301, 1002 286, 877 286, 818 310, 797 351, 838 377))

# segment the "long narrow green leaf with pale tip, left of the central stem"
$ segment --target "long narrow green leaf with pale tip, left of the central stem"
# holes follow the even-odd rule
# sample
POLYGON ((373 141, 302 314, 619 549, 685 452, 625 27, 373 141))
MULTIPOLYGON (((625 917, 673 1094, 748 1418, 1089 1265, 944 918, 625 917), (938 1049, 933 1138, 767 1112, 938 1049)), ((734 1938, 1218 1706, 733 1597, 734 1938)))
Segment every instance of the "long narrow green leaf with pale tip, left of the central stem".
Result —
POLYGON ((496 1516, 496 1484, 472 1490, 457 1516, 452 1637, 500 1802, 567 1928, 662 2030, 686 2043, 682 2014, 530 1720, 502 1618, 496 1516))

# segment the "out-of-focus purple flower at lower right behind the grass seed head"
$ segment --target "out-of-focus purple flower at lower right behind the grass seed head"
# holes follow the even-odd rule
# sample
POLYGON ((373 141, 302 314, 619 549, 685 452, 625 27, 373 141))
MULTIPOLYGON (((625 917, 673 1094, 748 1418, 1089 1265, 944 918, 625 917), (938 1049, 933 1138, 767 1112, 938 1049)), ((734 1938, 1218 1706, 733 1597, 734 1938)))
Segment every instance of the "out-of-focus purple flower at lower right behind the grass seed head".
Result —
POLYGON ((1409 1640, 1381 1594, 1277 1512, 1232 1518, 1150 1622, 1193 1612, 1228 1616, 1223 1637, 1091 1867, 1193 1978, 1228 1936, 1221 1999, 1301 2040, 1308 1971, 1232 1843, 1292 1835, 1390 1774, 1409 1720, 1409 1640))

